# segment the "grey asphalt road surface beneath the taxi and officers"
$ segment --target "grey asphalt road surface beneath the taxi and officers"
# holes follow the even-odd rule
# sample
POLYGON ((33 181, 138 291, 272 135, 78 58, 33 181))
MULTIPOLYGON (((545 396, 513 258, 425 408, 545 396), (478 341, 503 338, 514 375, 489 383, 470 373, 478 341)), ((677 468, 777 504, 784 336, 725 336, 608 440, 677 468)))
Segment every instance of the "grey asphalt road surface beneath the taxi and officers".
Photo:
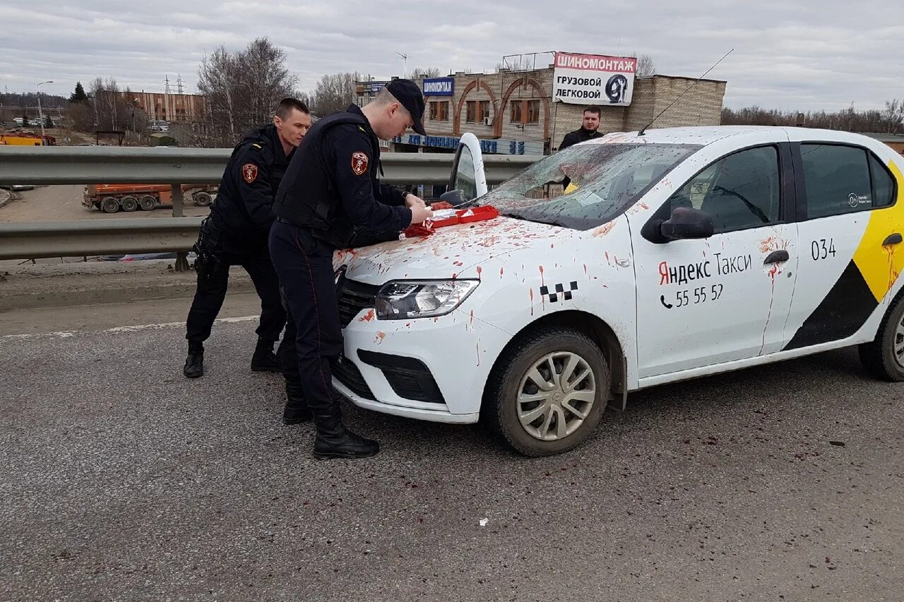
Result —
POLYGON ((637 393, 541 459, 346 407, 383 451, 318 462, 254 326, 196 381, 180 326, 0 338, 0 599, 904 597, 904 385, 855 353, 637 393))

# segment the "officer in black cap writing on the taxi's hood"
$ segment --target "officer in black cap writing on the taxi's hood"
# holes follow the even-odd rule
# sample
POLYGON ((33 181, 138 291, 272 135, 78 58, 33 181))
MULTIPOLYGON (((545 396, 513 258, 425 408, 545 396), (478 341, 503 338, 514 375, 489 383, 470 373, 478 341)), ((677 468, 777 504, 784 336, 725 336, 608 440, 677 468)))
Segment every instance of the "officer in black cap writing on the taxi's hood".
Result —
MULTIPOLYGON (((424 136, 424 98, 411 80, 392 80, 364 108, 351 105, 311 128, 279 186, 270 229, 270 257, 285 290, 289 325, 297 329, 297 365, 287 365, 284 422, 313 414, 314 455, 363 457, 376 441, 344 428, 330 362, 343 352, 333 254, 353 247, 355 229, 398 233, 431 212, 414 194, 379 180, 380 142, 409 127, 424 136)), ((287 362, 288 363, 288 362, 287 362)))

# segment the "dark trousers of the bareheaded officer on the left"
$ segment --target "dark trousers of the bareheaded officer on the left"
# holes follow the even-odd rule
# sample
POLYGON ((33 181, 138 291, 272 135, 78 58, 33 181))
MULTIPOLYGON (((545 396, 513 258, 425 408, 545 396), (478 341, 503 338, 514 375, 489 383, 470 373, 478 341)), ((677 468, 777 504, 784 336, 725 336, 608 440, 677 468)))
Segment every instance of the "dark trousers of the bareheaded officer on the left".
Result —
POLYGON ((220 253, 216 259, 198 267, 198 288, 188 311, 185 338, 192 343, 202 343, 210 337, 213 321, 226 298, 230 266, 245 268, 258 291, 260 324, 255 332, 264 341, 277 341, 286 325, 286 310, 279 299, 277 272, 266 251, 254 255, 220 253))

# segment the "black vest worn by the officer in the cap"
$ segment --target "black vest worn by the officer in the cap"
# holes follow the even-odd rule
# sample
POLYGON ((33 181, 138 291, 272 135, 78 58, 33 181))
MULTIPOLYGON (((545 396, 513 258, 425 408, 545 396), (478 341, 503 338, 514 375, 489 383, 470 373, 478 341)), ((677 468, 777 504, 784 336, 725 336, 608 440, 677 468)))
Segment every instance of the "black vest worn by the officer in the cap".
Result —
POLYGON ((296 150, 273 202, 273 212, 279 217, 311 230, 316 239, 335 249, 352 245, 354 225, 342 210, 335 167, 326 161, 324 139, 333 127, 349 123, 361 127, 371 140, 371 156, 376 165, 372 165, 370 178, 374 196, 379 198, 380 142, 366 118, 345 111, 320 119, 311 127, 304 143, 296 150))

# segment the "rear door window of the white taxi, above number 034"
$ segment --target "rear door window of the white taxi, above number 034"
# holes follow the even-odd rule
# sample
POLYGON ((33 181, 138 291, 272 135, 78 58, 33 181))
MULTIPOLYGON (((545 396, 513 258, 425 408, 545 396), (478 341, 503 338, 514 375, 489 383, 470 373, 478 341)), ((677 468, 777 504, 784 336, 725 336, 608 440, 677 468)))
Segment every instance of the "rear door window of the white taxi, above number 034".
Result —
POLYGON ((807 219, 873 208, 869 157, 865 149, 803 144, 800 154, 804 163, 807 219))

